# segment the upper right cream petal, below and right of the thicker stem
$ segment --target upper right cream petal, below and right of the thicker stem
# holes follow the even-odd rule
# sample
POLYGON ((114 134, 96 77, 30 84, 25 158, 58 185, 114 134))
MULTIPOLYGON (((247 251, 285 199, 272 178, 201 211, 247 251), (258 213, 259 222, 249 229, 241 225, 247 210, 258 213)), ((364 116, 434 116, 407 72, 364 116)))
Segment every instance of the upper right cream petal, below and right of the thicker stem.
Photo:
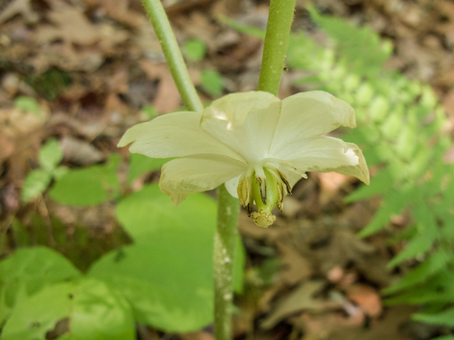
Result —
POLYGON ((323 91, 294 94, 282 101, 282 111, 270 149, 276 157, 289 142, 314 138, 339 126, 355 128, 355 110, 345 101, 323 91))

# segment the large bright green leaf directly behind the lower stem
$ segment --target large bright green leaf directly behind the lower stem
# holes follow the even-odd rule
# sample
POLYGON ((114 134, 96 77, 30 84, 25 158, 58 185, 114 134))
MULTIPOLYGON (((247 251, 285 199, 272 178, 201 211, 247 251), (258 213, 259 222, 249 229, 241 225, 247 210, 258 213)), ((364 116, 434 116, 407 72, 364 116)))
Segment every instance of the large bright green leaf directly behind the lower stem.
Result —
MULTIPOLYGON (((89 275, 121 290, 138 322, 166 331, 209 324, 216 203, 192 194, 175 208, 153 184, 123 199, 116 215, 135 244, 101 258, 89 275)), ((243 270, 242 250, 238 247, 236 273, 243 270)))

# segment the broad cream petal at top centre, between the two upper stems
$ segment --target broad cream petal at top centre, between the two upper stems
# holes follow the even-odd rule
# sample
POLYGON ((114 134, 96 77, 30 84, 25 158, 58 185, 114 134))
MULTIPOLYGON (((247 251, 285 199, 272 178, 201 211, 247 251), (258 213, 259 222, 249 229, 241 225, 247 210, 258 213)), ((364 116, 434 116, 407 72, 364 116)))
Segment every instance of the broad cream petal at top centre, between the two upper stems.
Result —
POLYGON ((205 109, 201 128, 249 163, 267 158, 282 101, 267 92, 230 94, 205 109))

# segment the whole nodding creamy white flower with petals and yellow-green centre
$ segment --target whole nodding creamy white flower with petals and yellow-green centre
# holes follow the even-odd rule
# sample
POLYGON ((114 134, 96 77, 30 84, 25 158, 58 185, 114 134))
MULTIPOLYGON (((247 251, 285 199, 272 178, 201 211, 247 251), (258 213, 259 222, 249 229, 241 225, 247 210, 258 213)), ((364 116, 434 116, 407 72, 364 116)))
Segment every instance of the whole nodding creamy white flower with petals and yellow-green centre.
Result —
POLYGON ((178 157, 162 167, 160 188, 181 203, 189 193, 225 183, 256 225, 275 222, 284 196, 306 171, 336 171, 369 183, 357 145, 324 136, 355 128, 355 111, 323 91, 280 100, 267 92, 223 96, 201 112, 176 112, 133 126, 118 143, 153 158, 178 157), (253 203, 258 211, 253 211, 253 203))

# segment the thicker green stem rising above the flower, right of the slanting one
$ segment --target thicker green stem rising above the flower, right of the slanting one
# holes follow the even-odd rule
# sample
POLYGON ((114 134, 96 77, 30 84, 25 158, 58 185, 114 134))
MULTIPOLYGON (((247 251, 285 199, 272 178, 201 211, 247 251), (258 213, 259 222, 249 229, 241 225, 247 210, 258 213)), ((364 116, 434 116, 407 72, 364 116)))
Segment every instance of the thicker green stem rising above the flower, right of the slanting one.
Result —
POLYGON ((271 0, 258 90, 277 95, 296 0, 271 0))

